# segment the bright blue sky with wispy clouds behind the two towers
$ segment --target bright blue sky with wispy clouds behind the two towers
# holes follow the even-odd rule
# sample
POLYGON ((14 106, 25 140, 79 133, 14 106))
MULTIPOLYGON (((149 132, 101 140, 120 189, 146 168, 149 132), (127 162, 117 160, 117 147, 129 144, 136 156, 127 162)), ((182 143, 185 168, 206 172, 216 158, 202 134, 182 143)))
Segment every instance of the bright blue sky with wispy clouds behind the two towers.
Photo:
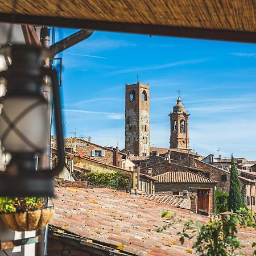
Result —
MULTIPOLYGON (((56 30, 56 40, 76 30, 56 30)), ((123 148, 125 83, 150 84, 151 145, 169 147, 177 90, 199 154, 256 159, 256 45, 96 31, 63 57, 65 137, 123 148)))

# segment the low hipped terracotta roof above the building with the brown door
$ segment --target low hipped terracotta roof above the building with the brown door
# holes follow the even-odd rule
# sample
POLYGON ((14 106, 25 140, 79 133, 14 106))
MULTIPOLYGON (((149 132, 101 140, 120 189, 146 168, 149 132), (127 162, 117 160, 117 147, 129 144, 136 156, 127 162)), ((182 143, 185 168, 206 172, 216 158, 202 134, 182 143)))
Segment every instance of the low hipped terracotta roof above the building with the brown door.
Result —
POLYGON ((217 183, 217 181, 189 171, 165 172, 154 177, 159 183, 217 183))

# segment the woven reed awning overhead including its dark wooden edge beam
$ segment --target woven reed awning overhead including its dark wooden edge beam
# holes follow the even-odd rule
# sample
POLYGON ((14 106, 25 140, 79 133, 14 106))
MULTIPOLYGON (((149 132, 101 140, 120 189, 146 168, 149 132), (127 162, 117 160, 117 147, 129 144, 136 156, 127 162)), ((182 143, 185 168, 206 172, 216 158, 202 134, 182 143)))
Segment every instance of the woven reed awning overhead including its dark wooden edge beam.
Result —
POLYGON ((256 42, 255 0, 0 0, 0 22, 256 42))

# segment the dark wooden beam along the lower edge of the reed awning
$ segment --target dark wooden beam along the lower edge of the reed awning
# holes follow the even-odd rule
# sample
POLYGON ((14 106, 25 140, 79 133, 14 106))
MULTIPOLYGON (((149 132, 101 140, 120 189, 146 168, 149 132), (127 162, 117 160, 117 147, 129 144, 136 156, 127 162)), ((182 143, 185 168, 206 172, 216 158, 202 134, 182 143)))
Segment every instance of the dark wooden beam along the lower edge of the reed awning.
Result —
POLYGON ((22 14, 0 14, 0 22, 37 24, 53 27, 81 28, 89 30, 127 32, 146 35, 174 36, 179 38, 208 39, 240 43, 256 43, 256 32, 216 30, 209 28, 191 28, 106 22, 97 20, 59 18, 50 16, 31 16, 22 14))

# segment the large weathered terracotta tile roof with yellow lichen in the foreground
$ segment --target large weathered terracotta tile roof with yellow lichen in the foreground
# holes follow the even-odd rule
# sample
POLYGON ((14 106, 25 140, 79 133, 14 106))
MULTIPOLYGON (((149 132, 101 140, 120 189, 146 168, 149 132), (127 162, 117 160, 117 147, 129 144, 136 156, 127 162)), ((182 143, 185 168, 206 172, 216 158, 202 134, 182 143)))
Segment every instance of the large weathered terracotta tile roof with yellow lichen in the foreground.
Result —
MULTIPOLYGON (((182 231, 182 223, 178 223, 176 229, 156 232, 159 226, 167 224, 160 217, 162 210, 171 210, 184 222, 190 219, 204 223, 209 221, 208 217, 189 210, 108 188, 57 187, 55 191, 57 198, 53 203, 56 214, 50 224, 57 227, 60 234, 71 233, 70 237, 75 237, 72 236, 74 234, 85 241, 97 243, 102 249, 104 245, 115 249, 122 245, 122 252, 128 255, 191 255, 186 250, 192 248, 194 241, 185 241, 181 245, 176 235, 182 231)), ((253 229, 238 232, 247 255, 253 255, 251 243, 255 236, 253 229)))

